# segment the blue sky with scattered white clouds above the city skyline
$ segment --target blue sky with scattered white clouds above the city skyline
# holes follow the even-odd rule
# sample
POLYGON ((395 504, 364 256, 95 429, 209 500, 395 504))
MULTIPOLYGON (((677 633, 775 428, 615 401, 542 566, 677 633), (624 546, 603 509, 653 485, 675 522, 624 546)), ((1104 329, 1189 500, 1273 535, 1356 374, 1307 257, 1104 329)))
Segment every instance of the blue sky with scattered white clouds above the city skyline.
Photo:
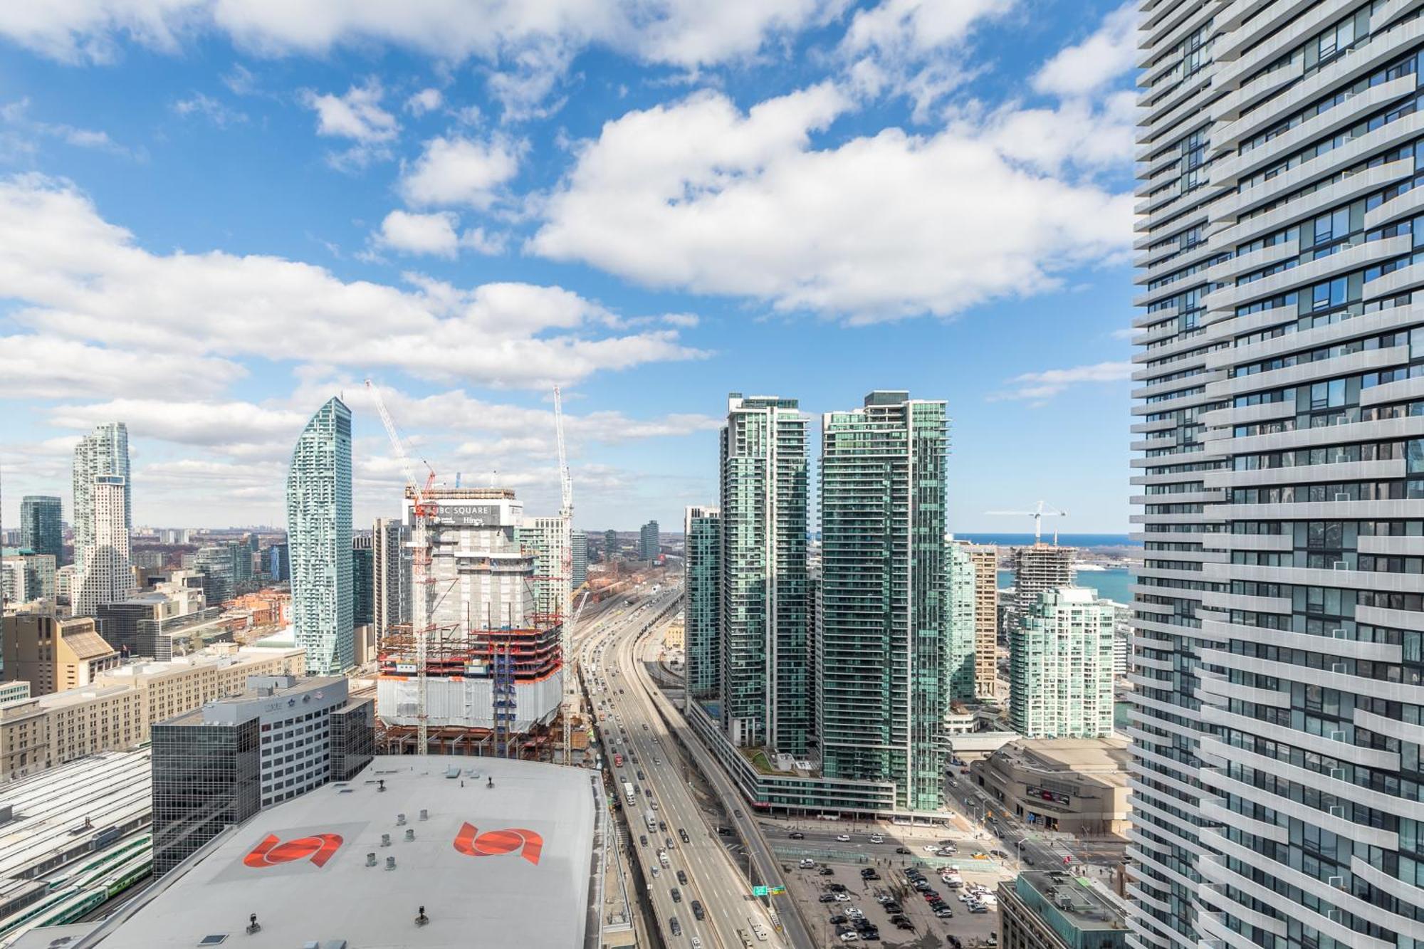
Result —
POLYGON ((716 502, 729 392, 946 399, 950 527, 1128 524, 1134 14, 1098 0, 0 4, 0 470, 285 523, 306 419, 575 526, 716 502))

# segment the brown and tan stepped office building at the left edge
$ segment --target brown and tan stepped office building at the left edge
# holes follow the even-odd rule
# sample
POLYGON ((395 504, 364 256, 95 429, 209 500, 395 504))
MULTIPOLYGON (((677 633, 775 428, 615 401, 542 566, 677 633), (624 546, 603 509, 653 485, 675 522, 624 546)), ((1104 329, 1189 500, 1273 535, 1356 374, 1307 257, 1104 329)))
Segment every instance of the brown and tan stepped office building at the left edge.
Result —
POLYGON ((64 620, 48 613, 14 613, 0 620, 4 681, 30 683, 31 695, 48 695, 93 683, 118 665, 90 617, 64 620))

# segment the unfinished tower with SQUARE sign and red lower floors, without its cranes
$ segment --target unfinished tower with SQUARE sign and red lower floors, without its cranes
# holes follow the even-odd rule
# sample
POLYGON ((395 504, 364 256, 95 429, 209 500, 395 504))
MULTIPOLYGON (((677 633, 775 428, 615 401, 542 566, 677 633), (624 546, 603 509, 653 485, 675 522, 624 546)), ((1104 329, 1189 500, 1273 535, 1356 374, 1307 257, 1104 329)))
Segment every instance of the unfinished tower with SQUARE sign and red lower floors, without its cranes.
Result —
MULTIPOLYGON (((406 489, 406 523, 414 523, 406 489)), ((419 748, 419 630, 377 648, 376 712, 386 754, 540 758, 562 698, 562 603, 540 603, 540 551, 524 506, 497 487, 427 487, 424 590, 426 730, 419 748)), ((416 557, 422 551, 414 551, 416 557)))

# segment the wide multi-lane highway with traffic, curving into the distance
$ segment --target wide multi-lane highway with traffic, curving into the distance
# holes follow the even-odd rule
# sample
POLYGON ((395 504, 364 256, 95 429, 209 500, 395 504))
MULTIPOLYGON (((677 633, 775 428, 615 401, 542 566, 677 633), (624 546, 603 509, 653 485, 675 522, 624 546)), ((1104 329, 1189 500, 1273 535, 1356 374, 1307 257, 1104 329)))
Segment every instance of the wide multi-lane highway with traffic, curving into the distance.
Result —
POLYGON ((740 930, 753 946, 782 949, 785 943, 772 929, 759 901, 750 895, 722 841, 703 821, 684 777, 685 764, 652 707, 646 685, 628 674, 637 665, 631 654, 635 634, 678 596, 681 591, 676 588, 665 590, 638 607, 614 614, 605 611, 577 637, 575 648, 591 687, 590 704, 595 714, 607 717, 600 722, 604 759, 614 772, 619 797, 624 781, 637 785, 637 802, 628 807, 625 799, 624 814, 665 943, 742 949, 740 930), (621 768, 612 767, 618 754, 624 755, 621 768), (649 832, 644 825, 644 815, 654 801, 658 804, 654 818, 662 821, 666 831, 649 832), (679 838, 679 828, 688 832, 688 842, 679 838), (648 838, 646 845, 639 842, 641 836, 648 838), (672 841, 671 848, 666 846, 668 839, 672 841), (658 849, 668 852, 666 869, 659 866, 658 849), (652 868, 658 868, 656 876, 652 868), (678 871, 686 875, 686 883, 679 882, 678 871), (672 888, 679 891, 681 902, 672 899, 672 888), (693 899, 702 903, 706 919, 693 916, 693 899), (678 936, 672 935, 674 918, 681 926, 678 936), (765 940, 758 939, 753 923, 762 926, 765 940))

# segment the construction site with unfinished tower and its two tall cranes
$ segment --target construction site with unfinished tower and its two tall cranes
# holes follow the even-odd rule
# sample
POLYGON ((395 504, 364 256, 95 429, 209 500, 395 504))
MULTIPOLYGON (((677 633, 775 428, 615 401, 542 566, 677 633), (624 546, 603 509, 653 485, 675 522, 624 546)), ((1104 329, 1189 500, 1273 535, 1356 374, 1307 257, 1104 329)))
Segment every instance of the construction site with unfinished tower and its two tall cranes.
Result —
POLYGON ((412 621, 376 647, 380 754, 572 762, 585 730, 564 668, 577 616, 557 395, 564 503, 558 517, 530 520, 510 489, 446 487, 434 472, 419 484, 379 393, 377 408, 407 472, 413 581, 412 621))

